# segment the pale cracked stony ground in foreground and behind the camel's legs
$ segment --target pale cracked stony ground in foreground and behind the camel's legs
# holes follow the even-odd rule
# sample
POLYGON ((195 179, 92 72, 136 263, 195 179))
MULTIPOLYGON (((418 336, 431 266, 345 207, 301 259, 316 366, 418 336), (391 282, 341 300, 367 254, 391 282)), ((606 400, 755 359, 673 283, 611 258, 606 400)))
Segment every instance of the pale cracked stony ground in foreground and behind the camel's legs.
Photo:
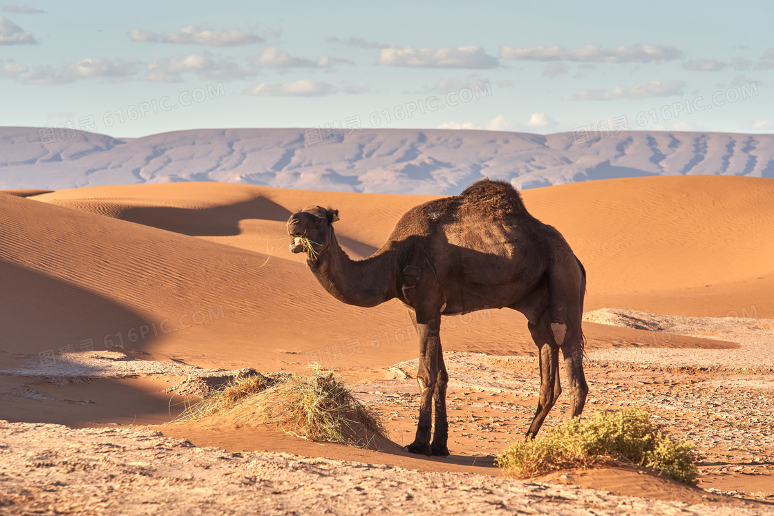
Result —
MULTIPOLYGON (((228 453, 170 439, 148 427, 70 429, 0 422, 0 513, 774 514, 772 321, 676 320, 621 311, 591 313, 587 319, 638 327, 648 339, 710 333, 741 344, 732 350, 649 347, 587 356, 592 394, 584 415, 646 406, 673 436, 696 443, 704 494, 697 490, 682 499, 647 499, 620 496, 637 494, 627 488, 612 494, 572 485, 584 485, 584 474, 577 472, 546 477, 552 484, 539 484, 491 473, 431 473, 286 453, 228 453)), ((521 439, 529 424, 539 388, 536 359, 450 353, 446 361, 452 378, 449 447, 453 454, 480 457, 479 464, 491 466, 492 456, 512 439, 521 439)), ((396 364, 392 371, 392 380, 362 379, 350 385, 382 414, 390 439, 406 444, 416 428, 416 361, 396 364)), ((3 372, 43 374, 39 367, 3 372)), ((170 378, 171 390, 195 394, 233 373, 104 352, 78 354, 69 365, 45 374, 63 382, 99 374, 156 374, 170 378)), ((9 395, 36 399, 34 392, 9 395)), ((562 422, 567 408, 563 396, 543 428, 562 422)))

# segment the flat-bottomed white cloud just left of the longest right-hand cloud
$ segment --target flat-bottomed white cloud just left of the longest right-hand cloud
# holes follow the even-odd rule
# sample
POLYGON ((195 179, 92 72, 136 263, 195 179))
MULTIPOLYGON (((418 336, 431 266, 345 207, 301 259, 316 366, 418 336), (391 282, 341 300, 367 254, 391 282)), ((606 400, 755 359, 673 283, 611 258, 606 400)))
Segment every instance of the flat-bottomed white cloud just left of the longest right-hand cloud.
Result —
POLYGON ((479 46, 446 46, 438 49, 416 49, 413 46, 391 47, 379 51, 376 64, 390 67, 421 68, 496 68, 496 57, 488 56, 479 46))

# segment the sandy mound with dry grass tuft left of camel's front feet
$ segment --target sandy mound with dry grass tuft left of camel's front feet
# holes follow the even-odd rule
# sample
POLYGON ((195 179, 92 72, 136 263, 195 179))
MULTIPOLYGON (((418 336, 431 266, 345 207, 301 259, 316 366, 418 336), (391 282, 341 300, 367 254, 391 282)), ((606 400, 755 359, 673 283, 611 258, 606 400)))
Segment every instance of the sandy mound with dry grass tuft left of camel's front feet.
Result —
POLYGON ((333 371, 320 368, 303 375, 235 378, 188 407, 175 422, 229 419, 235 413, 241 424, 270 423, 303 439, 350 446, 367 446, 368 432, 371 439, 385 435, 378 415, 354 398, 333 371))

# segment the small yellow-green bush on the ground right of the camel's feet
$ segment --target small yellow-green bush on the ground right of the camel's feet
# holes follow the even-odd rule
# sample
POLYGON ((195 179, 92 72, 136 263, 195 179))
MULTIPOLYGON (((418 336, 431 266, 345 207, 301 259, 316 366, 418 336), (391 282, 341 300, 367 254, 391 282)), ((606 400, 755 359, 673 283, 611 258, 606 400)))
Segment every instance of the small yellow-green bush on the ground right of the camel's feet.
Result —
POLYGON ((541 439, 513 443, 497 456, 512 477, 535 477, 567 467, 633 463, 659 470, 683 484, 696 484, 694 445, 673 441, 650 422, 645 408, 598 412, 584 422, 574 418, 541 439))

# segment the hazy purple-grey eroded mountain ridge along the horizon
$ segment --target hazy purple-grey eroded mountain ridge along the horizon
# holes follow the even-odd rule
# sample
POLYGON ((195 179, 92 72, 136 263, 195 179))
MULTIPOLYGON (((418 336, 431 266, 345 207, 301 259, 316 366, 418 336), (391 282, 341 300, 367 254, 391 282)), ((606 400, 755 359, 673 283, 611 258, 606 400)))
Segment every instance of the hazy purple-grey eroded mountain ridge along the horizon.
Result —
POLYGON ((569 132, 448 129, 346 129, 312 145, 303 128, 66 136, 43 145, 39 128, 0 128, 0 189, 220 181, 446 195, 482 176, 519 189, 635 176, 774 178, 774 135, 622 131, 580 145, 569 132))

